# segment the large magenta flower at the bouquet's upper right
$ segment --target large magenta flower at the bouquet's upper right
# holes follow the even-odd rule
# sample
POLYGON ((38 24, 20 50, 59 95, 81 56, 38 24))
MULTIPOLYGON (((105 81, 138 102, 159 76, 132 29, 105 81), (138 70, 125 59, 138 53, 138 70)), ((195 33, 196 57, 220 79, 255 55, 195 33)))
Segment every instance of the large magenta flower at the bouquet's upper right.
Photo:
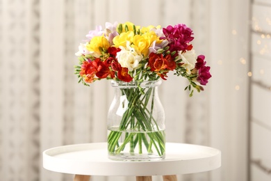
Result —
POLYGON ((169 41, 170 52, 187 50, 189 42, 194 39, 192 30, 186 24, 176 24, 174 27, 169 25, 163 29, 163 33, 165 37, 161 39, 169 41))

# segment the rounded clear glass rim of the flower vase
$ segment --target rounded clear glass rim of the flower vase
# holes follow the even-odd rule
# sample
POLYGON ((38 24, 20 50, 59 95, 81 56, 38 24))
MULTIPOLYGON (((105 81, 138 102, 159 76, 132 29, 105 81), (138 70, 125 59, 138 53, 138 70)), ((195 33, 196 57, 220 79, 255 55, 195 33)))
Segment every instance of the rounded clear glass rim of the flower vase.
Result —
POLYGON ((113 87, 125 87, 125 88, 137 88, 140 87, 155 87, 160 86, 162 84, 161 79, 154 80, 154 81, 111 81, 111 86, 113 87))

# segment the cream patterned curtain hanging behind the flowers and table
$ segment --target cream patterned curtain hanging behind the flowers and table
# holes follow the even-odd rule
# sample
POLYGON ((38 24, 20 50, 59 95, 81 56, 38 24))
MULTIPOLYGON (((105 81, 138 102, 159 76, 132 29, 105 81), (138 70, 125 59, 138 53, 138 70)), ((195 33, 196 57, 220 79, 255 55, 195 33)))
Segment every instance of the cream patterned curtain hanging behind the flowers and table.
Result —
POLYGON ((71 180, 44 170, 42 151, 106 141, 109 81, 77 84, 73 65, 85 34, 115 21, 184 23, 194 30, 193 45, 206 55, 213 77, 192 98, 183 91, 184 79, 163 81, 167 141, 219 148, 222 168, 179 179, 245 180, 248 15, 248 0, 0 0, 1 180, 71 180))

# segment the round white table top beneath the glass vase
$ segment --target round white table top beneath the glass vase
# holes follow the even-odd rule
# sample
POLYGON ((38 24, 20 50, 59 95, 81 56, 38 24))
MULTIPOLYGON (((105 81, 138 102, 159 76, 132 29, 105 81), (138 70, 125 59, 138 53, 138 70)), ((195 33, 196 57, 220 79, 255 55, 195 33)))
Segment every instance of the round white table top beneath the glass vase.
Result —
POLYGON ((165 159, 127 162, 108 159, 107 143, 85 143, 50 148, 43 152, 43 167, 77 175, 179 175, 211 171, 221 166, 215 148, 184 143, 166 143, 165 159))

